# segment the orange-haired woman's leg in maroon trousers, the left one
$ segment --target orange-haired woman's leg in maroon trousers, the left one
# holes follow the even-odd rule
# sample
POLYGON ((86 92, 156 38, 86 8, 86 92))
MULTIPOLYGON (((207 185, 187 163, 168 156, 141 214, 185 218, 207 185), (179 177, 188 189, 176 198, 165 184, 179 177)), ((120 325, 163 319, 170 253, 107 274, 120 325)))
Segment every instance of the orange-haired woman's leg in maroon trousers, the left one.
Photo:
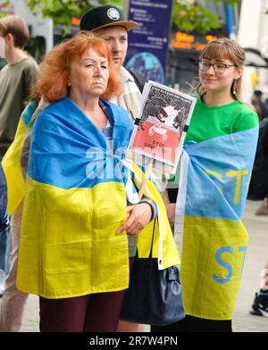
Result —
POLYGON ((46 299, 40 296, 40 332, 82 332, 90 297, 46 299))

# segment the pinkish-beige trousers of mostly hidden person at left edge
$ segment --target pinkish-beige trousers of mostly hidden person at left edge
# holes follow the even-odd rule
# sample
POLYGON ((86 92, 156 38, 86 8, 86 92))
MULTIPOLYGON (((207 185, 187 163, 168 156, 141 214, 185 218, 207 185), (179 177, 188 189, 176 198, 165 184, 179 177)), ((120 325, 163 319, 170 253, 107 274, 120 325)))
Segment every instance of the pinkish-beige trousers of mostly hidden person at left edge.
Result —
POLYGON ((0 331, 18 332, 21 329, 21 321, 24 306, 28 294, 20 292, 16 288, 16 277, 18 270, 18 253, 21 232, 22 204, 13 214, 11 222, 11 269, 5 279, 3 300, 0 309, 0 331))

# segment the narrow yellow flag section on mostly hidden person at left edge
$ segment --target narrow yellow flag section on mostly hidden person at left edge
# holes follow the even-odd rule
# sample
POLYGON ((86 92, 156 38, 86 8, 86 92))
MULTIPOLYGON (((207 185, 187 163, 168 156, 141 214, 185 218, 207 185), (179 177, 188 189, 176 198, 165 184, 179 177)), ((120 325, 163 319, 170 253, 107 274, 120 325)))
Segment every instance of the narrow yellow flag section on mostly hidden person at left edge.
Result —
POLYGON ((2 160, 7 182, 7 212, 9 215, 13 214, 25 195, 25 182, 21 173, 20 155, 26 131, 27 128, 22 119, 20 119, 13 143, 6 154, 4 154, 2 160))

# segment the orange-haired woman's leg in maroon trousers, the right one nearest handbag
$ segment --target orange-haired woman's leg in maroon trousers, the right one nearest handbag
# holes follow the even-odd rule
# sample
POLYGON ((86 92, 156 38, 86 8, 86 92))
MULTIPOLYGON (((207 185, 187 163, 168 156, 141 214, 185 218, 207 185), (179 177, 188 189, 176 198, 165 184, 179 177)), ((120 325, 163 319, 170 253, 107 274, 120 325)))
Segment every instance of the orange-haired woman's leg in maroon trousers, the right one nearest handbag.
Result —
POLYGON ((90 296, 85 320, 85 332, 115 332, 125 290, 90 296))

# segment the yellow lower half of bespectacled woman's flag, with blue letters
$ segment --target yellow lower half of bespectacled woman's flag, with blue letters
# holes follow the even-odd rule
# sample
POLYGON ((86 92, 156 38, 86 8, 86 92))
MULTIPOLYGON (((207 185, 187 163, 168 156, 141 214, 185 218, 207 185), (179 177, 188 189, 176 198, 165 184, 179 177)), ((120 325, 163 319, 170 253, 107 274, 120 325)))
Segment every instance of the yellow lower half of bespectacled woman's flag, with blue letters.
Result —
POLYGON ((226 219, 185 216, 184 223, 182 260, 188 263, 181 264, 180 276, 185 312, 209 320, 230 320, 239 292, 247 230, 241 221, 226 219))

